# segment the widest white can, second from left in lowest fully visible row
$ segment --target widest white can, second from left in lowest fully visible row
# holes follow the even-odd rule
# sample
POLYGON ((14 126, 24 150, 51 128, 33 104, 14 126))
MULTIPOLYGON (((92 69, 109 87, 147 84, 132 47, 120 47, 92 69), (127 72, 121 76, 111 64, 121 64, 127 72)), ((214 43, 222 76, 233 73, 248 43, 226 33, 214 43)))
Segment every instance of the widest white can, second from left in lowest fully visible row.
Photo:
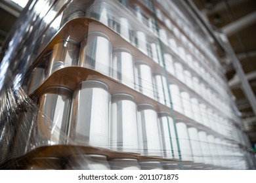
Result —
POLYGON ((110 105, 106 84, 81 82, 73 97, 70 138, 78 144, 109 148, 110 105))

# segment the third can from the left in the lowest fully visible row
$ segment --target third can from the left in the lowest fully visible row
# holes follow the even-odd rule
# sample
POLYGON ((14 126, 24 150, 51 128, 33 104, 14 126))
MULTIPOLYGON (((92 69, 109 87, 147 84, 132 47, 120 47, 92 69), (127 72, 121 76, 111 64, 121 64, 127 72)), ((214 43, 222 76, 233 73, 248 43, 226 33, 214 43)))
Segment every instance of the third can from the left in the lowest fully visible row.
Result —
POLYGON ((132 95, 112 95, 110 146, 113 150, 123 152, 139 151, 137 105, 132 95))

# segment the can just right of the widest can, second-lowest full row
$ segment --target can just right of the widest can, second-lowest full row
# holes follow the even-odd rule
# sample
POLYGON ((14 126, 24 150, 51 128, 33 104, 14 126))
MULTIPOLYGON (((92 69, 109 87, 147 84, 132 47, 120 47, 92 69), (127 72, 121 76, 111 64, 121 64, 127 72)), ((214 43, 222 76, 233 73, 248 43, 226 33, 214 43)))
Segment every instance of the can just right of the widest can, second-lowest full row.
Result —
POLYGON ((112 60, 112 76, 135 89, 135 65, 131 52, 126 48, 115 48, 112 60))

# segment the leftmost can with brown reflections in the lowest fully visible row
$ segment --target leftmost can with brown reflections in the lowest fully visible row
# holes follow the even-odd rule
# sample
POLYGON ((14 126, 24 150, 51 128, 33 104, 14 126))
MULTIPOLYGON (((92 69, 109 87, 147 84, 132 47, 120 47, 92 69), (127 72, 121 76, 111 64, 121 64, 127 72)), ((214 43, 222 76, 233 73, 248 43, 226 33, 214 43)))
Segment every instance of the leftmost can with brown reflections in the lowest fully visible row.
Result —
POLYGON ((42 138, 42 142, 47 144, 66 144, 72 95, 72 90, 64 87, 51 87, 44 91, 39 99, 37 133, 34 133, 39 136, 34 138, 42 138))

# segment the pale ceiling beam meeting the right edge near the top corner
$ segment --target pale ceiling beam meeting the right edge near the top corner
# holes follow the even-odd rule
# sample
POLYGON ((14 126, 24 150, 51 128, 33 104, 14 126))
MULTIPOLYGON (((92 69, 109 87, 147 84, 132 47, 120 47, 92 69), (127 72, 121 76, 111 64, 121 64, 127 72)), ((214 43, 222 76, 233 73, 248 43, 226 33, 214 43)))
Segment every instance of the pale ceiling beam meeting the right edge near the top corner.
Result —
POLYGON ((249 25, 256 22, 256 11, 251 12, 250 14, 247 14, 243 16, 242 18, 231 22, 228 25, 225 25, 223 28, 221 28, 221 31, 226 35, 233 35, 234 33, 249 27, 249 25))

